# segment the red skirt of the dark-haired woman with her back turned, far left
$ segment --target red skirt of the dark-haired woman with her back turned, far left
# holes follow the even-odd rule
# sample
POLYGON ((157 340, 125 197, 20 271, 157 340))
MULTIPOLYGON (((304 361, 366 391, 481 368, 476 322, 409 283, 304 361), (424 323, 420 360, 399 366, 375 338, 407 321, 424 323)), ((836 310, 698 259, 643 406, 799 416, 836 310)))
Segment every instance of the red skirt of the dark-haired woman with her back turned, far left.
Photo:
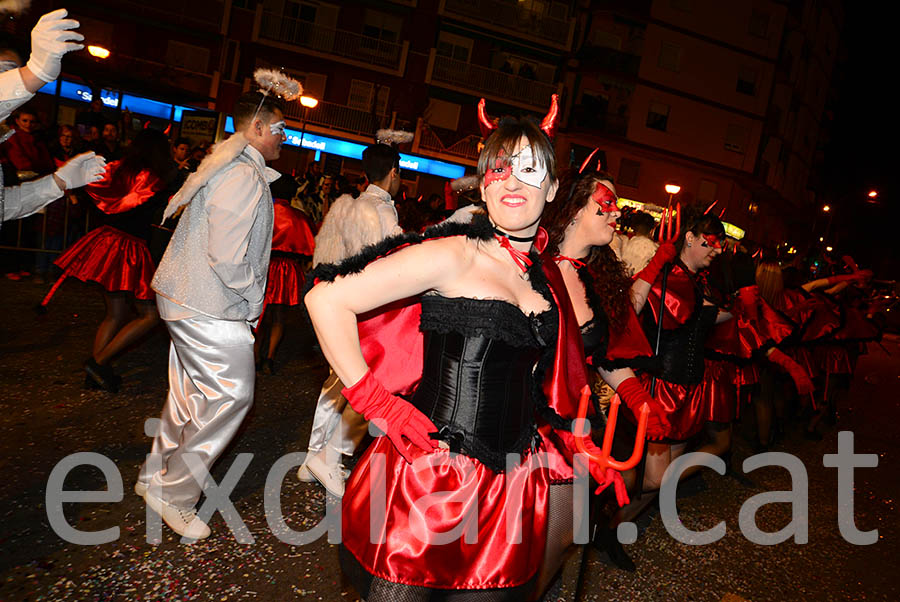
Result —
POLYGON ((150 282, 156 264, 146 241, 112 226, 91 230, 54 262, 63 278, 96 282, 107 291, 126 291, 137 299, 154 299, 150 282))

